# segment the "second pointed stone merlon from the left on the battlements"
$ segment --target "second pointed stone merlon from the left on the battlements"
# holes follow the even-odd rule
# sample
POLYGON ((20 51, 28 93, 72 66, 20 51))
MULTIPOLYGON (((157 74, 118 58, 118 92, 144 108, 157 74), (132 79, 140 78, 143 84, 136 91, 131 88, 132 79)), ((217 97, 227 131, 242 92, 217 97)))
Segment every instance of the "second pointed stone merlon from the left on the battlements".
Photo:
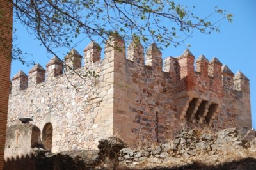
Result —
POLYGON ((45 70, 44 68, 36 63, 36 65, 29 70, 28 86, 34 86, 35 84, 40 84, 45 81, 45 70))

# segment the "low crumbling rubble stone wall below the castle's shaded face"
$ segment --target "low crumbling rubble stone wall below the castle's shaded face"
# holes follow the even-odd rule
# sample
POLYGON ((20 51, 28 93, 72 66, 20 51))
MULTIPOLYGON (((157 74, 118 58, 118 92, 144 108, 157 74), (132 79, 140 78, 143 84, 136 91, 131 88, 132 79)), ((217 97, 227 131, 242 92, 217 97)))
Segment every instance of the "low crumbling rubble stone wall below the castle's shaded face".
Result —
POLYGON ((248 127, 228 128, 220 132, 202 133, 200 130, 181 130, 170 143, 143 150, 120 150, 120 164, 147 160, 163 162, 166 158, 189 158, 196 155, 217 155, 223 146, 250 148, 256 146, 256 131, 248 127))

